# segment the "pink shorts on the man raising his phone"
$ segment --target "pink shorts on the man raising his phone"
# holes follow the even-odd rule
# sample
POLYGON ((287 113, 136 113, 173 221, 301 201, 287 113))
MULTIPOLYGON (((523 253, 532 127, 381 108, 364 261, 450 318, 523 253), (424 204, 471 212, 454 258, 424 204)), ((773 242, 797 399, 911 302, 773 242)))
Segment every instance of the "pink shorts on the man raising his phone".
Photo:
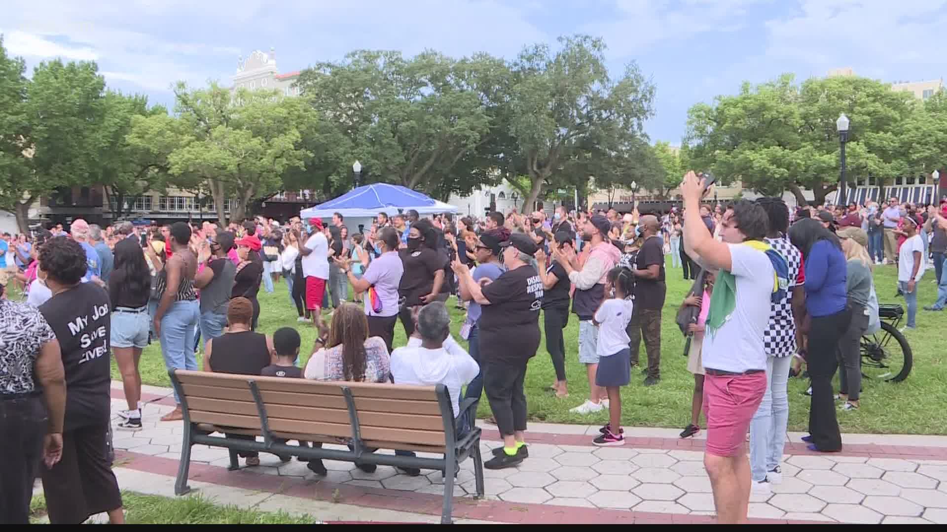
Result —
POLYGON ((713 376, 704 380, 706 452, 735 456, 742 452, 746 431, 766 393, 766 372, 713 376))

